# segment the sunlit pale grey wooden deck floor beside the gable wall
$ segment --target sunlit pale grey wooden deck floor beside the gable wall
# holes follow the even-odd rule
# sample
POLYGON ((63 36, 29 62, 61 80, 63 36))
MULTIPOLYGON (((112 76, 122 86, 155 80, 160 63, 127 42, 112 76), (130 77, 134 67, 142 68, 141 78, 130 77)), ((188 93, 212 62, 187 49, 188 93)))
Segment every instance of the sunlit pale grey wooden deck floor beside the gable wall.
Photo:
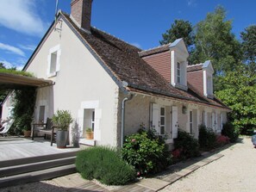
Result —
POLYGON ((0 163, 10 159, 31 158, 78 150, 79 148, 69 146, 66 149, 58 149, 56 144, 50 146, 50 141, 42 138, 32 140, 22 137, 0 137, 0 163))

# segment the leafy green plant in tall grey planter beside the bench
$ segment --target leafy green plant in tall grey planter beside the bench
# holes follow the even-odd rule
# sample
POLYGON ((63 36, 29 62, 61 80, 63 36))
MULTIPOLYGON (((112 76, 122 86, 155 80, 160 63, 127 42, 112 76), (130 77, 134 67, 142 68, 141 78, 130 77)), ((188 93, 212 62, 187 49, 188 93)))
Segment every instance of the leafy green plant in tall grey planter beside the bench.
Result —
POLYGON ((58 127, 56 144, 58 148, 65 148, 68 139, 68 128, 72 123, 72 115, 67 110, 57 110, 53 115, 53 124, 58 127))

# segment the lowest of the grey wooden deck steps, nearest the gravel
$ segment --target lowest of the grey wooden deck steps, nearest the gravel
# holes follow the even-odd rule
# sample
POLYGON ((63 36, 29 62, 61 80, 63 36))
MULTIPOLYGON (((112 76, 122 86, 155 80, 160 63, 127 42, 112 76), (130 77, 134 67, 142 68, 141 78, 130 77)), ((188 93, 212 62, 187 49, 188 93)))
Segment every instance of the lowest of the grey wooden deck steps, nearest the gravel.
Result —
POLYGON ((46 170, 36 170, 28 173, 22 173, 15 176, 0 178, 1 188, 14 186, 18 184, 37 182, 41 180, 52 179, 55 177, 66 176, 76 172, 74 164, 58 166, 46 170))

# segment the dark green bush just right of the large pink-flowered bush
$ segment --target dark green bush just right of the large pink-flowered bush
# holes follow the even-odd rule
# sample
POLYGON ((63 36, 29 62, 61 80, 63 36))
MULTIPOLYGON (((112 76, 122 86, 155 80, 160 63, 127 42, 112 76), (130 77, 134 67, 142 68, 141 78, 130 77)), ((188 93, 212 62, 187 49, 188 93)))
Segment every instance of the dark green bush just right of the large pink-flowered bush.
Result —
POLYGON ((180 151, 180 158, 192 158, 200 155, 197 139, 180 129, 178 129, 178 138, 174 139, 174 148, 180 151))

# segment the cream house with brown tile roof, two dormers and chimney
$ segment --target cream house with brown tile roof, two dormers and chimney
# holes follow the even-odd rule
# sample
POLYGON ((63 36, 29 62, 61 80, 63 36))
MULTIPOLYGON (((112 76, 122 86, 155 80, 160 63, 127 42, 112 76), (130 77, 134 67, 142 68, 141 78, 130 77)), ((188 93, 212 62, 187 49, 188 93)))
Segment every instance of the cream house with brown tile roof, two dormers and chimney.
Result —
MULTIPOLYGON (((198 125, 220 133, 226 105, 213 96, 210 61, 189 65, 184 40, 140 50, 91 27, 92 0, 72 0, 71 15, 59 11, 24 71, 54 84, 37 89, 34 121, 57 109, 76 120, 84 145, 122 146, 140 125, 177 138, 178 127, 198 137, 198 125), (94 139, 84 138, 86 127, 94 139)), ((3 118, 11 102, 3 103, 3 118)))

